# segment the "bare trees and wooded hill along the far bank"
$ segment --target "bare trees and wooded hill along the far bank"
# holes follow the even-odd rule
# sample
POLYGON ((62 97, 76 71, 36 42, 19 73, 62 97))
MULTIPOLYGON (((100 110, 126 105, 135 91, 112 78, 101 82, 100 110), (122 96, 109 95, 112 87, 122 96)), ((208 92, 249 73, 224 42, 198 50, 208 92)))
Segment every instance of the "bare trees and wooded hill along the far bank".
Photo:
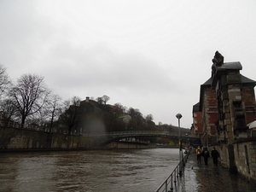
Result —
POLYGON ((121 103, 108 105, 109 96, 79 96, 62 101, 44 83, 44 77, 22 74, 13 82, 0 65, 1 125, 19 125, 41 131, 90 134, 97 131, 156 131, 153 115, 143 117, 139 109, 121 103))

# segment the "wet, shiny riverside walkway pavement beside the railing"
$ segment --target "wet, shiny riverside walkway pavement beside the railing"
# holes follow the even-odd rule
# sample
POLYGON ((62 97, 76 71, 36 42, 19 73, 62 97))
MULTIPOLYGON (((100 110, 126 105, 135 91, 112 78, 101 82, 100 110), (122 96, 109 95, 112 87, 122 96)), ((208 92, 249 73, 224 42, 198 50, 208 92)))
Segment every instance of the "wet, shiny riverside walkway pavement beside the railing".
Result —
POLYGON ((240 174, 231 174, 222 166, 214 166, 212 158, 208 165, 197 164, 196 155, 190 154, 184 167, 183 177, 178 179, 175 192, 256 192, 256 182, 249 182, 240 174))

